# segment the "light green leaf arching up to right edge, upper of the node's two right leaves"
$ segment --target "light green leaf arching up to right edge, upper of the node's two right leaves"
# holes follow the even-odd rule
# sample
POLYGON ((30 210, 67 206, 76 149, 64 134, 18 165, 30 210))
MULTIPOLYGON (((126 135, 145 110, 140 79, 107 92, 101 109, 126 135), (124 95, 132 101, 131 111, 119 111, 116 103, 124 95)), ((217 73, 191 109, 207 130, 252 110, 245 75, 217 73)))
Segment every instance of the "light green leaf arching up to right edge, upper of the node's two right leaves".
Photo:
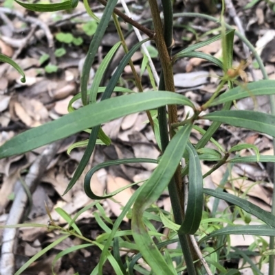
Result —
POLYGON ((212 102, 211 106, 217 106, 227 101, 238 100, 245 97, 256 95, 274 95, 275 94, 275 80, 259 80, 248 84, 243 84, 232 88, 229 91, 219 95, 212 102))

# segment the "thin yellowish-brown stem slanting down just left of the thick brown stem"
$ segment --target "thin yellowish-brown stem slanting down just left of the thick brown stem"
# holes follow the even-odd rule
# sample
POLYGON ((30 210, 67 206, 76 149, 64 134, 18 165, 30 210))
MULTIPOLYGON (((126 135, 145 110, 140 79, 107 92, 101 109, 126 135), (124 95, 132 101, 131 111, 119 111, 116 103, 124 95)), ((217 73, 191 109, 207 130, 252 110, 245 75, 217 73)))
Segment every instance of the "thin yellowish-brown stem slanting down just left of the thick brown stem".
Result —
MULTIPOLYGON (((115 23, 115 28, 118 32, 118 36, 120 36, 120 41, 122 43, 122 47, 124 49, 124 52, 128 53, 129 49, 126 45, 124 35, 123 35, 122 29, 120 27, 120 23, 118 22, 118 18, 115 15, 115 13, 113 13, 112 16, 113 16, 113 22, 115 23)), ((130 67, 131 67, 131 71, 133 73, 133 77, 135 78, 135 85, 137 86, 138 91, 140 91, 140 93, 142 93, 143 92, 142 82, 140 81, 140 77, 138 77, 138 75, 137 75, 137 71, 135 71, 135 66, 133 65, 133 61, 131 59, 129 60, 129 64, 130 64, 130 67)), ((150 123, 152 129, 154 130, 154 122, 153 122, 151 113, 148 110, 146 110, 146 115, 148 117, 148 120, 149 120, 149 123, 150 123)))

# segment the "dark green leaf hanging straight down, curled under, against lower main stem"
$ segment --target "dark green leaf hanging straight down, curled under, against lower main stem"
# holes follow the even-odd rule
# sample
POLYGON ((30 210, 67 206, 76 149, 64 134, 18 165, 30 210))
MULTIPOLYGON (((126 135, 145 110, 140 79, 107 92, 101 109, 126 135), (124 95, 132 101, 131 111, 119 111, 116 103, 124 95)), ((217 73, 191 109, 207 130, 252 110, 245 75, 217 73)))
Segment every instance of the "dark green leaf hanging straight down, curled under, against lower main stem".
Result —
POLYGON ((179 235, 194 235, 199 228, 203 211, 203 178, 201 174, 201 164, 199 156, 193 145, 187 143, 189 154, 189 173, 188 173, 188 202, 184 222, 179 228, 179 235))

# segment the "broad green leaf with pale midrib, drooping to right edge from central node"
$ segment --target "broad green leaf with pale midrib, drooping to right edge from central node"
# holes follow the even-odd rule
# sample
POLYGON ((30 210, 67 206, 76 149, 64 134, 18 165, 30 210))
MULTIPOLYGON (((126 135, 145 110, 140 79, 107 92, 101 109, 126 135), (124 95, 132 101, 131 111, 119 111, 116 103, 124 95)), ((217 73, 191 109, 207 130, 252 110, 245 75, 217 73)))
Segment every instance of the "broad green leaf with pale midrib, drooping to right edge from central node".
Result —
POLYGON ((247 128, 275 136, 275 116, 248 110, 228 110, 211 112, 203 119, 219 121, 236 127, 247 128))

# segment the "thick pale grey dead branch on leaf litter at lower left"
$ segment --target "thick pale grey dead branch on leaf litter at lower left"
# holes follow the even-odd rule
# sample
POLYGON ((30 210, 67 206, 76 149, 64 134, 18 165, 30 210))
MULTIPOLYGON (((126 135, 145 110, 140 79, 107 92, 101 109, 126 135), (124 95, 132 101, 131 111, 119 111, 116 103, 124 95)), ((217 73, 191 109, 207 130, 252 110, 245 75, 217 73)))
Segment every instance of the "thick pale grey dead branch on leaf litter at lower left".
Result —
MULTIPOLYGON (((28 189, 33 193, 39 182, 39 178, 43 176, 47 165, 58 151, 62 141, 57 141, 48 145, 44 152, 36 158, 30 167, 29 173, 25 178, 28 189)), ((19 224, 24 215, 25 205, 28 202, 28 195, 25 193, 22 185, 17 191, 16 197, 10 209, 6 224, 19 224)), ((17 247, 17 228, 5 228, 3 231, 3 245, 1 248, 0 274, 14 274, 14 253, 17 247)))

